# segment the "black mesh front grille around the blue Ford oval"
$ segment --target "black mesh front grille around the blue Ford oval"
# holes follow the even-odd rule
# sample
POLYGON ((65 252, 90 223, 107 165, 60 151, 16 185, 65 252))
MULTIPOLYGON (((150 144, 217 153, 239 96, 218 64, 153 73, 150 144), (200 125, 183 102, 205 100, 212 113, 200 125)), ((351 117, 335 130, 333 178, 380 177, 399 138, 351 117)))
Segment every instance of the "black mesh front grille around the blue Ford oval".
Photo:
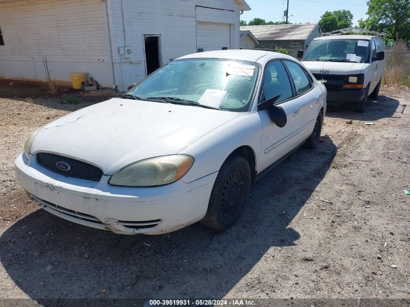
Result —
POLYGON ((48 152, 39 152, 36 154, 37 163, 48 170, 66 176, 85 180, 99 181, 102 177, 102 170, 97 166, 75 160, 72 158, 51 154, 48 152), (67 170, 57 167, 57 163, 66 163, 69 165, 67 170))

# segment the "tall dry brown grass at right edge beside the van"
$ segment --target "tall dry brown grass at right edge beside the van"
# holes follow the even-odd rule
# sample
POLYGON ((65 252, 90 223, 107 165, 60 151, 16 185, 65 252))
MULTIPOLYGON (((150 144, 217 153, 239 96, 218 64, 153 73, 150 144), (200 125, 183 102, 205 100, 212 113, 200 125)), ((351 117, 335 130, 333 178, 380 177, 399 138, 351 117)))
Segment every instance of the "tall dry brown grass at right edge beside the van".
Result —
MULTIPOLYGON (((390 52, 408 52, 409 49, 403 41, 388 49, 390 52)), ((386 85, 410 86, 410 54, 386 53, 385 68, 382 83, 386 85)))

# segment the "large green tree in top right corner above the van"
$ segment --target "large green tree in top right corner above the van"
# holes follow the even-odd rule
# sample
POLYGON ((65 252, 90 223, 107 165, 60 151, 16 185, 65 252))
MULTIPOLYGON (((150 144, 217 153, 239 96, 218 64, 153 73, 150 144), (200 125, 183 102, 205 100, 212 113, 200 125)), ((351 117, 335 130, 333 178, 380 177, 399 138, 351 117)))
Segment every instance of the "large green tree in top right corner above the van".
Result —
POLYGON ((409 0, 369 0, 367 5, 369 18, 359 20, 361 28, 385 32, 394 41, 410 39, 409 0))

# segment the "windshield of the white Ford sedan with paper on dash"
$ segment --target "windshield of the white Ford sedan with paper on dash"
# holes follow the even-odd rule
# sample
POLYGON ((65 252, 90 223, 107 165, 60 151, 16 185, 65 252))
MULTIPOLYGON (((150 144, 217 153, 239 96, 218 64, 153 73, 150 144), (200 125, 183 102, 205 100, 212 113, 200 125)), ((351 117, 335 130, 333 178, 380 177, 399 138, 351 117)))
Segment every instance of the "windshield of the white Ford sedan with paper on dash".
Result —
POLYGON ((171 61, 124 97, 247 112, 259 65, 225 59, 171 61))

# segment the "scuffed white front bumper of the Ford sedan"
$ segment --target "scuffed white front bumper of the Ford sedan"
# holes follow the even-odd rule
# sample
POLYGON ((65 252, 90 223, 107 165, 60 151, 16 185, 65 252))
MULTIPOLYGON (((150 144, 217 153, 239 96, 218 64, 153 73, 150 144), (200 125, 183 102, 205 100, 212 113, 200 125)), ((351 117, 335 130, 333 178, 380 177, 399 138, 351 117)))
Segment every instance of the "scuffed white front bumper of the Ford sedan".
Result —
POLYGON ((21 154, 16 175, 35 203, 68 221, 120 234, 163 234, 201 220, 208 209, 217 173, 190 183, 181 180, 151 188, 115 187, 67 178, 21 154))

